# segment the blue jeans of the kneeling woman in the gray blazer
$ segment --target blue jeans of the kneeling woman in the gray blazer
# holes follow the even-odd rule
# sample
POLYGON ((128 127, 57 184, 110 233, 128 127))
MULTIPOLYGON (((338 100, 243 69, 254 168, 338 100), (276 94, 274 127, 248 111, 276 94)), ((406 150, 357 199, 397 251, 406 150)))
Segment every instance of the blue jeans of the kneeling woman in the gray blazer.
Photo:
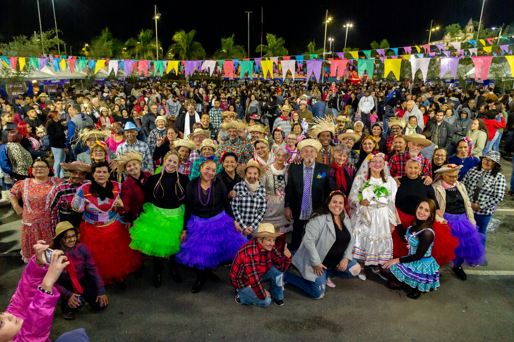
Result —
POLYGON ((343 272, 338 271, 337 267, 326 269, 323 270, 323 274, 321 276, 316 277, 316 281, 310 281, 291 272, 287 272, 284 274, 284 282, 299 288, 310 298, 321 299, 325 294, 326 278, 350 278, 352 276, 356 276, 359 272, 360 266, 357 263, 357 260, 352 258, 352 260, 348 261, 348 266, 343 272))

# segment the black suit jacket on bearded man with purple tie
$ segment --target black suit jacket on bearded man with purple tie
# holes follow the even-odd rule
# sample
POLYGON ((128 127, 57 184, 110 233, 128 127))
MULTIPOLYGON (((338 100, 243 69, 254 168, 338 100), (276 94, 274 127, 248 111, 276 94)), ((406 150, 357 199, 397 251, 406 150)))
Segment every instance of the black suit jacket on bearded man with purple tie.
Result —
MULTIPOLYGON (((289 165, 284 207, 291 208, 293 219, 298 219, 302 211, 303 184, 303 163, 289 165)), ((334 177, 330 175, 330 167, 321 163, 315 163, 313 184, 310 188, 313 210, 324 205, 325 199, 334 190, 339 190, 339 188, 334 177), (323 173, 325 174, 324 176, 323 173), (318 178, 318 175, 322 177, 318 178)))

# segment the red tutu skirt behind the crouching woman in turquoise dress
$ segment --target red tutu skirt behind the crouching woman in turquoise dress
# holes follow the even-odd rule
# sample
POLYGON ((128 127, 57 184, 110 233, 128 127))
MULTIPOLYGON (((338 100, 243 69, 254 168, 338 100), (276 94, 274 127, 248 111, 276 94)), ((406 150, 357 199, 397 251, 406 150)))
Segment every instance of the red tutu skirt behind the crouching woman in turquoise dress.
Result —
MULTIPOLYGON (((398 216, 400 216, 403 228, 407 229, 411 224, 414 216, 401 212, 398 208, 398 216)), ((432 246, 432 256, 437 265, 445 265, 455 258, 455 248, 458 246, 458 238, 451 234, 451 228, 437 221, 432 225, 434 230, 434 246, 432 246)), ((391 234, 393 238, 393 258, 400 258, 409 255, 407 242, 403 241, 395 229, 391 234)))

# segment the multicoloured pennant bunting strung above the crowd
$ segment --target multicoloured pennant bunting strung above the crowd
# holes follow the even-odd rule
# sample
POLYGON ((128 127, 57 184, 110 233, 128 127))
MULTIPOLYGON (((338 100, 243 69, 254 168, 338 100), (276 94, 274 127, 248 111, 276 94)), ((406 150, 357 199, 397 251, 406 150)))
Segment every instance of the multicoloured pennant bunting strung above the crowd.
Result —
MULTIPOLYGON (((514 35, 510 37, 514 37, 514 35)), ((307 79, 314 76, 316 81, 319 82, 322 71, 326 76, 342 77, 348 75, 348 69, 353 69, 357 71, 359 77, 364 73, 371 77, 375 72, 374 69, 378 61, 384 67, 384 77, 392 72, 394 77, 399 80, 401 63, 409 61, 413 78, 416 71, 421 70, 421 74, 426 80, 431 58, 439 58, 440 60, 440 77, 443 77, 449 71, 455 78, 460 59, 471 58, 475 67, 475 79, 487 79, 492 58, 497 56, 503 56, 507 59, 514 77, 514 56, 511 50, 511 46, 514 44, 494 45, 497 43, 495 39, 503 38, 504 41, 509 41, 510 37, 478 39, 478 43, 475 40, 467 41, 470 46, 473 46, 467 49, 462 48, 461 42, 449 43, 455 50, 446 50, 445 44, 426 44, 414 46, 418 53, 412 53, 412 47, 403 47, 405 54, 398 54, 399 48, 389 48, 394 53, 394 55, 389 56, 386 55, 388 49, 336 52, 337 58, 319 58, 318 54, 311 54, 308 55, 309 59, 304 59, 305 55, 295 55, 269 58, 210 59, 206 61, 88 59, 78 56, 43 54, 39 57, 30 58, 0 56, 0 62, 13 70, 16 70, 16 67, 19 67, 20 70, 24 67, 27 67, 27 70, 42 70, 45 66, 49 66, 55 72, 69 71, 74 73, 93 69, 95 74, 100 70, 107 74, 114 71, 115 76, 117 76, 119 70, 123 70, 125 76, 130 76, 132 73, 156 76, 157 72, 162 76, 172 71, 177 75, 181 73, 185 76, 192 76, 199 73, 212 76, 216 72, 216 74, 222 74, 228 78, 243 78, 246 74, 250 78, 254 74, 259 74, 260 77, 268 77, 268 74, 270 74, 270 77, 273 78, 274 74, 280 75, 282 73, 283 79, 290 74, 292 79, 295 79, 296 76, 306 77, 307 79), (483 46, 479 47, 479 43, 483 46), (438 51, 431 51, 432 46, 435 46, 438 51), (495 47, 494 50, 493 47, 495 47), (372 56, 372 51, 376 51, 377 54, 372 56), (294 59, 291 59, 291 57, 294 59), (327 62, 329 67, 323 68, 323 62, 327 62), (304 63, 305 68, 303 67, 304 63)), ((328 54, 332 55, 331 52, 328 52, 328 54)))

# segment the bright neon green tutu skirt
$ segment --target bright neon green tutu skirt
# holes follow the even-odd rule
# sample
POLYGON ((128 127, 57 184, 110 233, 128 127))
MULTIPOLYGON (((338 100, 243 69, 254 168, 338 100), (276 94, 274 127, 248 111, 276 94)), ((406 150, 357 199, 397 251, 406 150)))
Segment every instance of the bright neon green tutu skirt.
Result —
POLYGON ((143 210, 130 229, 130 248, 160 257, 177 253, 184 226, 184 205, 177 209, 162 209, 145 203, 143 210))

